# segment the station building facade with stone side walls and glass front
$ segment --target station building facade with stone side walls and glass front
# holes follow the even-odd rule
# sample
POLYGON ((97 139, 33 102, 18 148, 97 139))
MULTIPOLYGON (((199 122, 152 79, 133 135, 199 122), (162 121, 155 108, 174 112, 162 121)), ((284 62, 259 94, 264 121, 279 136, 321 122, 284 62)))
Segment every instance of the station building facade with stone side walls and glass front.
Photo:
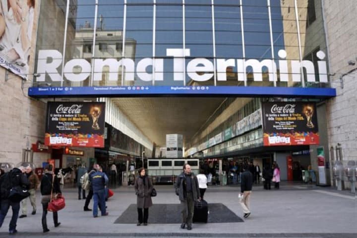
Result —
MULTIPOLYGON (((29 97, 32 86, 336 88, 337 96, 330 99, 228 97, 185 141, 185 155, 248 158, 261 165, 268 159, 282 168, 293 156, 318 171, 318 148, 332 162, 336 150, 330 149, 338 145, 344 160, 356 160, 352 0, 42 0, 30 8, 28 72, 0 68, 1 139, 8 145, 0 150, 1 162, 20 162, 32 153, 32 144, 44 141, 47 101, 52 100, 29 97), (315 103, 319 144, 265 147, 264 102, 315 103)), ((3 52, 12 49, 7 48, 3 52)), ((90 100, 106 102, 106 122, 151 152, 153 141, 120 112, 115 98, 90 100)), ((68 156, 56 150, 61 148, 31 156, 38 167, 54 156, 62 158, 58 166, 67 166, 68 156)), ((95 150, 83 150, 89 163, 95 150)))

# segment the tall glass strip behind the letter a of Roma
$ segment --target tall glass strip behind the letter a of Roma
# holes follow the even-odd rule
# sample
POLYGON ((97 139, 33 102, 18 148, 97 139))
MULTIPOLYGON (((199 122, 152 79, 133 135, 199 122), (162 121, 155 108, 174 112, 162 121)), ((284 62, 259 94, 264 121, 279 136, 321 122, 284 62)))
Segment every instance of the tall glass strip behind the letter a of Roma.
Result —
MULTIPOLYGON (((136 73, 134 82, 125 81, 125 85, 152 85, 152 34, 153 5, 128 5, 126 8, 125 42, 132 42, 134 47, 131 51, 126 51, 125 47, 125 58, 134 60, 136 73), (147 62, 141 61, 145 58, 149 58, 146 59, 147 62)), ((130 70, 125 71, 127 74, 130 70)))

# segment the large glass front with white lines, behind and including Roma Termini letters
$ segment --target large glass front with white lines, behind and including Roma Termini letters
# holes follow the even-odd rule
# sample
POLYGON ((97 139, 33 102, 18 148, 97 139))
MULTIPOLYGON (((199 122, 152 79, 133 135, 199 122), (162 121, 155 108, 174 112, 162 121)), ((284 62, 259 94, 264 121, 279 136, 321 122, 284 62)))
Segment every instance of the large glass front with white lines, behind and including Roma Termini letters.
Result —
POLYGON ((321 0, 70 0, 68 7, 43 0, 37 81, 327 87, 320 7, 321 0))

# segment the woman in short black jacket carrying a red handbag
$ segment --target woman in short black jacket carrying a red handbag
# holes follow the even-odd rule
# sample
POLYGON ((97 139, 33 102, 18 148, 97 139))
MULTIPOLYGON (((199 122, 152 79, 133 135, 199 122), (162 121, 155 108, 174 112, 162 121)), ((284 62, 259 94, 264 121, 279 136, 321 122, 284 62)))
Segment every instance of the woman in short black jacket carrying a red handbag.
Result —
MULTIPOLYGON (((43 213, 42 213, 42 228, 43 232, 49 232, 50 230, 47 227, 47 208, 48 205, 51 201, 51 195, 52 197, 58 194, 61 194, 60 190, 60 181, 57 178, 57 176, 53 175, 53 167, 52 165, 47 165, 45 167, 45 175, 42 177, 41 180, 41 203, 42 203, 42 208, 43 208, 43 213)), ((58 222, 58 213, 53 212, 53 219, 55 223, 55 227, 60 226, 60 222, 58 222)))

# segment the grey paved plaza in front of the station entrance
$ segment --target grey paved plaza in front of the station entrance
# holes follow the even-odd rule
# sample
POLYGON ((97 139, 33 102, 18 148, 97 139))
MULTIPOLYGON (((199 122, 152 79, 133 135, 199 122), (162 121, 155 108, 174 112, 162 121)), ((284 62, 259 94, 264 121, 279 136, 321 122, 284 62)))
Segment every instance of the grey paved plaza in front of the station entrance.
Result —
MULTIPOLYGON (((173 185, 157 185, 156 189, 158 196, 153 198, 154 204, 179 205, 173 185)), ((131 204, 136 203, 136 196, 132 186, 119 186, 113 190, 115 195, 107 202, 109 216, 93 218, 92 212, 83 211, 84 200, 78 200, 77 189, 63 188, 66 207, 59 212, 61 225, 54 227, 49 212, 47 219, 51 231, 47 234, 42 233, 41 194, 37 192, 37 214, 31 215, 31 208, 28 208, 27 217, 17 221, 16 237, 357 237, 356 196, 349 191, 336 191, 332 187, 283 182, 280 190, 263 190, 261 185, 256 185, 251 197, 251 215, 243 219, 238 204, 239 186, 210 186, 205 193, 205 200, 209 204, 222 203, 229 210, 220 216, 234 214, 244 222, 193 224, 191 231, 182 230, 179 223, 170 221, 151 223, 156 220, 156 214, 150 209, 149 225, 146 227, 137 227, 136 223, 115 223, 131 204)), ((93 200, 90 203, 92 205, 93 200)), ((0 230, 0 237, 8 236, 10 216, 11 210, 0 230)), ((177 220, 180 214, 171 216, 177 220)), ((136 219, 128 217, 128 220, 136 219)))

